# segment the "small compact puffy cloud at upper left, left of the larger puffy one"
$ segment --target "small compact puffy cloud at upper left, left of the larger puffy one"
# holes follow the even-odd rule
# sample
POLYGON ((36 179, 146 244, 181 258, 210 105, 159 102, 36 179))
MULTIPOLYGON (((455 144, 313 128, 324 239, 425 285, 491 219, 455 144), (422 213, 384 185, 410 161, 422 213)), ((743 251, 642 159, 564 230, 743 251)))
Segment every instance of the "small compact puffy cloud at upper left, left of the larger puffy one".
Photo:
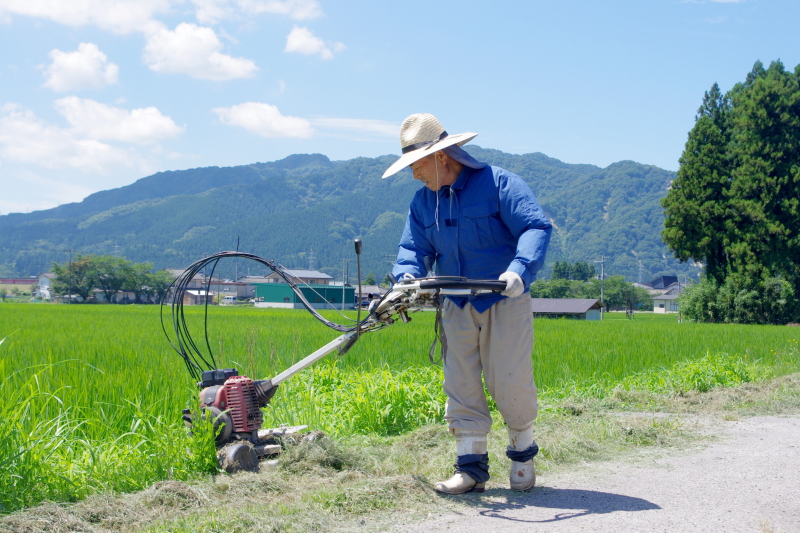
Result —
POLYGON ((100 89, 117 83, 119 67, 108 61, 96 44, 81 43, 75 52, 52 50, 44 83, 57 92, 100 89))

